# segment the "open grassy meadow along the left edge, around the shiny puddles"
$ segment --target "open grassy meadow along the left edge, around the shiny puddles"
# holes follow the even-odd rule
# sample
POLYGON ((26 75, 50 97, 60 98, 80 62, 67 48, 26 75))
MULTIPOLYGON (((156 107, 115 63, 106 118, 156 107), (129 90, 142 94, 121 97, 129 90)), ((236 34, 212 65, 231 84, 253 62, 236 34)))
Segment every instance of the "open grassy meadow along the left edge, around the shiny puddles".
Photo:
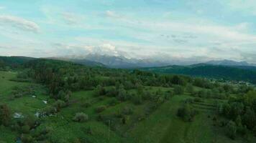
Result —
MULTIPOLYGON (((28 86, 39 86, 37 84, 29 84, 26 82, 12 82, 9 79, 13 79, 16 77, 17 73, 10 71, 0 71, 0 104, 7 104, 12 114, 14 112, 19 112, 22 114, 35 114, 37 109, 45 107, 45 104, 42 102, 42 99, 47 99, 47 96, 42 94, 37 94, 37 98, 32 98, 27 95, 22 98, 10 99, 10 95, 12 94, 12 89, 14 87, 28 87, 28 86)), ((38 92, 40 93, 40 92, 38 92)), ((14 142, 17 134, 12 132, 10 129, 6 127, 0 127, 1 134, 0 140, 4 140, 6 142, 14 142)))

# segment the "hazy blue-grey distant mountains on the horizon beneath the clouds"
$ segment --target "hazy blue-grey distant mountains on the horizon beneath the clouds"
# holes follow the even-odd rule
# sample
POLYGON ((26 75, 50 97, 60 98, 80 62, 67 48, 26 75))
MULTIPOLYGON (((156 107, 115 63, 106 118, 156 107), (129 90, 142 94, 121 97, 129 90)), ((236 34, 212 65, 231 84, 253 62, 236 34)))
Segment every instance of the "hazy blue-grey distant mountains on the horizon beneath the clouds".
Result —
MULTIPOLYGON (((55 58, 56 59, 56 58, 55 58)), ((180 61, 180 60, 155 60, 155 59, 132 59, 124 56, 110 56, 101 54, 88 54, 86 56, 65 56, 59 57, 57 59, 62 59, 66 61, 73 61, 78 64, 85 65, 96 65, 96 66, 107 66, 110 68, 121 68, 121 69, 133 69, 142 67, 160 67, 160 66, 170 66, 170 65, 192 65, 200 64, 198 61, 180 61)), ((206 61, 204 64, 211 65, 222 65, 222 66, 240 66, 240 68, 245 68, 244 66, 256 66, 255 64, 249 64, 247 61, 232 61, 232 60, 219 60, 219 61, 206 61)), ((247 67, 248 68, 248 67, 247 67)), ((253 69, 253 67, 250 67, 253 69)))

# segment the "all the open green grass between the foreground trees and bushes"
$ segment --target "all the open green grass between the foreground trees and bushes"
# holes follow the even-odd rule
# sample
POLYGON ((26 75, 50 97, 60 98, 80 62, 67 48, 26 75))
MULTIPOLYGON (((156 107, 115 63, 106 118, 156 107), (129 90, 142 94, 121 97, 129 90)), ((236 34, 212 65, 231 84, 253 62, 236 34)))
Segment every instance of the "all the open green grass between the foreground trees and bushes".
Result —
MULTIPOLYGON (((7 104, 12 112, 20 114, 35 114, 39 109, 52 104, 52 99, 45 93, 45 87, 40 84, 27 82, 12 82, 10 79, 16 77, 17 73, 0 71, 0 101, 7 104), (22 87, 35 90, 35 97, 24 95, 19 98, 11 98, 12 91, 22 87), (48 101, 48 104, 42 102, 48 101)), ((198 88, 198 87, 196 87, 198 88)), ((156 92, 160 89, 163 92, 173 91, 167 87, 145 87, 148 92, 156 92)), ((134 90, 129 90, 134 92, 134 90)), ((245 142, 242 137, 232 140, 225 136, 224 129, 215 127, 213 117, 216 112, 216 102, 224 102, 217 99, 204 99, 204 102, 193 102, 193 107, 199 112, 193 122, 184 122, 177 117, 177 110, 187 99, 194 97, 188 94, 175 95, 170 97, 157 109, 147 112, 152 103, 150 101, 142 104, 133 104, 130 101, 109 104, 114 97, 95 97, 93 91, 73 92, 70 101, 72 104, 60 110, 57 114, 43 117, 37 130, 44 127, 51 127, 52 132, 48 139, 51 142, 136 142, 136 143, 198 143, 198 142, 245 142), (90 102, 89 107, 83 106, 90 102), (96 112, 96 107, 106 106, 103 112, 96 112), (122 119, 116 117, 122 109, 129 107, 133 109, 132 114, 125 117, 127 122, 122 124, 122 119), (73 122, 77 112, 88 114, 88 122, 73 122), (99 119, 99 116, 103 119, 99 119), (88 132, 89 130, 89 132, 88 132), (81 142, 81 141, 79 141, 81 142)), ((18 132, 13 132, 8 127, 0 127, 0 141, 16 142, 18 132)), ((253 139, 252 139, 253 140, 253 139)), ((250 142, 250 141, 248 141, 250 142)))

